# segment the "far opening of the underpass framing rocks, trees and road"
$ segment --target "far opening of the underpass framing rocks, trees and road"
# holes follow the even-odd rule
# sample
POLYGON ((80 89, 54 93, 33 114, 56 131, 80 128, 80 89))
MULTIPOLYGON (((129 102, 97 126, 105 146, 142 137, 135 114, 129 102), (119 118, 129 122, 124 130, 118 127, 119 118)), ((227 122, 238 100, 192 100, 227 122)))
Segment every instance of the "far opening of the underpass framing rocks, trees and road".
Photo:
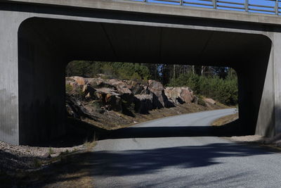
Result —
POLYGON ((84 133, 85 137, 93 137, 96 128, 96 139, 120 138, 124 137, 122 132, 127 132, 127 127, 131 125, 138 126, 149 120, 181 115, 181 122, 149 127, 154 133, 131 127, 126 137, 242 134, 236 129, 237 90, 237 74, 233 68, 72 61, 66 67, 65 78, 67 120, 70 123, 67 126, 71 126, 67 128, 74 129, 77 134, 79 126, 84 124, 84 132, 88 132, 84 133), (217 110, 216 113, 207 122, 190 124, 189 116, 183 117, 184 114, 214 110, 217 110), (91 136, 85 124, 92 130, 91 136), (225 124, 228 126, 209 127, 225 124), (125 129, 119 130, 122 128, 125 129), (183 129, 187 129, 185 133, 183 129))

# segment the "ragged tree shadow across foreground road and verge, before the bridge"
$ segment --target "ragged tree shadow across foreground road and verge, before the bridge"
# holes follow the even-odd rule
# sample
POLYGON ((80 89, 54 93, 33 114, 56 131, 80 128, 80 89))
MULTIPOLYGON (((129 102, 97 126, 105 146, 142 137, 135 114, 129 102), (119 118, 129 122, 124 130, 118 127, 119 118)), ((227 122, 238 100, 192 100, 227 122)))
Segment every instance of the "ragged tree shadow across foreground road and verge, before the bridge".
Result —
MULTIPOLYGON (((27 187, 45 187, 46 185, 51 185, 55 187, 62 185, 65 181, 78 182, 79 180, 84 180, 85 177, 91 179, 98 176, 120 177, 146 175, 172 166, 176 166, 176 168, 200 168, 220 164, 221 162, 218 162, 216 158, 237 158, 271 153, 270 151, 236 143, 76 153, 63 159, 60 163, 51 165, 47 169, 31 173, 27 177, 24 177, 24 180, 20 180, 18 185, 24 184, 27 187), (36 181, 34 181, 34 178, 36 181)), ((218 178, 217 175, 216 178, 218 178)), ((229 177, 229 180, 220 181, 233 181, 232 178, 242 178, 242 175, 229 177)), ((194 181, 195 179, 188 179, 185 176, 184 180, 187 182, 194 181)), ((15 179, 13 181, 17 182, 15 179)), ((204 181, 188 183, 203 186, 209 183, 206 181, 207 179, 204 178, 204 181)), ((214 181, 214 179, 210 179, 210 181, 214 181)))

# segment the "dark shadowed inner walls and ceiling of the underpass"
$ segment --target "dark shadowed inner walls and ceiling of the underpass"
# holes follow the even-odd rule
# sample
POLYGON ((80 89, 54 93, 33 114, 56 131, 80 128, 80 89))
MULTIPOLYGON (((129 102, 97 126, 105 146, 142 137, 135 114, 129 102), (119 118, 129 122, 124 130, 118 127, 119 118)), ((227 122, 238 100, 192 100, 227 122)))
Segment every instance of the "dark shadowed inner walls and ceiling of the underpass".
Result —
POLYGON ((245 134, 273 134, 271 42, 263 35, 30 18, 18 30, 20 144, 65 134, 65 66, 73 59, 232 67, 245 134), (268 84, 266 84, 268 83, 268 84), (270 111, 270 110, 269 110, 270 111))

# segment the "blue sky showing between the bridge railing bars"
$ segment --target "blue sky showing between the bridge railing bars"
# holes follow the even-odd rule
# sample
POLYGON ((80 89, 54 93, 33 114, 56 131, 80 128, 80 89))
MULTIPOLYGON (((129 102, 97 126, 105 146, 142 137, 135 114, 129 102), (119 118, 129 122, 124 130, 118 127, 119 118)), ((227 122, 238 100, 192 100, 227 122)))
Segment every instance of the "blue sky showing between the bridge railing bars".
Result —
MULTIPOLYGON (((143 0, 133 0, 133 1, 143 1, 143 0)), ((177 0, 176 0, 177 1, 177 0)), ((179 1, 179 0, 178 0, 179 1)), ((210 0, 184 0, 185 2, 190 2, 190 3, 199 3, 199 4, 209 4, 210 6, 202 6, 202 5, 192 5, 192 4, 185 4, 185 6, 195 6, 195 7, 204 7, 204 8, 212 8, 212 2, 210 0)), ((221 0, 221 1, 227 1, 227 2, 235 2, 235 3, 241 3, 244 4, 245 0, 221 0)), ((275 1, 270 1, 270 0, 248 0, 249 4, 252 5, 258 5, 258 6, 275 6, 275 1)), ((160 3, 160 4, 174 4, 178 5, 179 3, 171 3, 171 2, 165 2, 161 0, 148 0, 149 3, 160 3)), ((281 1, 279 2, 281 5, 281 1)), ((275 11, 274 8, 261 8, 258 6, 249 6, 249 8, 255 8, 259 10, 264 10, 264 11, 253 11, 249 10, 249 12, 256 12, 256 13, 268 13, 268 14, 275 14, 275 13, 270 13, 270 12, 265 12, 265 11, 275 11)), ((280 7, 280 6, 279 6, 280 7)), ((221 10, 233 10, 233 11, 244 11, 242 9, 242 5, 235 5, 235 4, 226 4, 226 3, 218 3, 218 9, 221 10), (234 6, 237 8, 223 8, 219 6, 234 6)), ((279 9, 280 10, 280 9, 279 9)))

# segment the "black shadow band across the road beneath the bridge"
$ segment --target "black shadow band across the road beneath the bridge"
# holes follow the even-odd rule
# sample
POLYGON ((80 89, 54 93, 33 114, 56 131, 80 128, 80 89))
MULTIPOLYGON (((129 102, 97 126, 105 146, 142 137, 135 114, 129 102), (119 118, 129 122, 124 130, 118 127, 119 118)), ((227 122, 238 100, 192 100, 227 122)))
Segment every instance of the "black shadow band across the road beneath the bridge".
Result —
MULTIPOLYGON (((240 128, 239 120, 232 123, 215 126, 188 127, 127 127, 119 130, 104 130, 89 123, 73 118, 67 119, 67 134, 59 139, 39 146, 69 147, 84 144, 93 139, 122 139, 122 138, 153 138, 153 137, 231 137, 245 135, 240 128)), ((35 145, 37 146, 37 145, 35 145)))

